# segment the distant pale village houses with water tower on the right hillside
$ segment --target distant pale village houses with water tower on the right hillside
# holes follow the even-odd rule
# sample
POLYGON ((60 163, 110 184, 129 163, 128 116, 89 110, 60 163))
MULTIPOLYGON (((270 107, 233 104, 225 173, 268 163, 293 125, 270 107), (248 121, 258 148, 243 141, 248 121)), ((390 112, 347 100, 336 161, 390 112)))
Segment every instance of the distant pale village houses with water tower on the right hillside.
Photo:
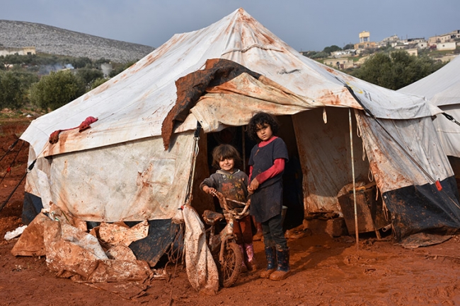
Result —
MULTIPOLYGON (((437 51, 449 51, 455 50, 460 47, 460 30, 454 30, 452 32, 436 35, 428 38, 408 38, 403 40, 398 35, 393 35, 384 38, 381 42, 372 42, 370 40, 369 31, 363 31, 359 35, 360 42, 352 45, 352 49, 338 50, 330 53, 328 59, 324 59, 322 62, 328 66, 337 67, 338 69, 350 69, 355 67, 357 64, 362 64, 362 61, 367 59, 363 57, 360 62, 355 61, 352 57, 369 53, 369 50, 381 49, 385 47, 393 47, 393 49, 406 50, 410 55, 418 56, 418 52, 421 49, 430 49, 437 51)), ((301 52, 307 55, 308 52, 301 52)), ((372 52, 370 52, 372 53, 372 52)), ((442 61, 449 61, 455 55, 446 56, 440 58, 442 61)))

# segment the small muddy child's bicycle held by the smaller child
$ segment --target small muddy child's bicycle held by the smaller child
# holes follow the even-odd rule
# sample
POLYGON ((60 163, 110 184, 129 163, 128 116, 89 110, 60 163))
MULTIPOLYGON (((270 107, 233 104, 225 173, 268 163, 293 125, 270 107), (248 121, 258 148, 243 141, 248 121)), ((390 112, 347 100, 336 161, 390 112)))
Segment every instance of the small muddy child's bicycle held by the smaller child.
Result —
POLYGON ((206 240, 219 271, 219 283, 222 287, 228 288, 238 280, 243 264, 243 254, 241 254, 241 249, 235 240, 234 221, 242 216, 246 216, 251 201, 243 203, 231 200, 220 192, 213 192, 212 195, 219 199, 219 202, 224 207, 224 213, 206 210, 203 212, 202 217, 207 225, 211 225, 206 230, 206 240), (227 201, 243 204, 244 208, 229 209, 227 201), (220 233, 216 234, 215 225, 223 219, 226 220, 226 225, 220 233))

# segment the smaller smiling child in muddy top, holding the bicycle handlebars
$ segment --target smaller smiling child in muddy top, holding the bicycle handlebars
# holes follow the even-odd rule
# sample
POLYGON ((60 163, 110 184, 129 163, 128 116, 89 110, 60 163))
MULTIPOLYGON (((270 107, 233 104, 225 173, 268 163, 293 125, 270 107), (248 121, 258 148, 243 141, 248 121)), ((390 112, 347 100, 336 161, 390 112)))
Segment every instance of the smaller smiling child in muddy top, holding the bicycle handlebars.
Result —
MULTIPOLYGON (((236 148, 228 144, 222 144, 214 148, 212 151, 212 165, 219 168, 219 170, 205 179, 200 184, 200 189, 207 194, 218 191, 224 194, 226 198, 246 203, 248 201, 248 175, 239 169, 235 169, 235 163, 241 163, 241 158, 236 148)), ((227 202, 227 206, 229 206, 229 209, 243 207, 241 204, 231 201, 227 202)), ((254 259, 253 233, 249 214, 239 220, 235 220, 234 233, 236 243, 243 253, 243 258, 246 253, 247 269, 255 271, 257 266, 254 259)))

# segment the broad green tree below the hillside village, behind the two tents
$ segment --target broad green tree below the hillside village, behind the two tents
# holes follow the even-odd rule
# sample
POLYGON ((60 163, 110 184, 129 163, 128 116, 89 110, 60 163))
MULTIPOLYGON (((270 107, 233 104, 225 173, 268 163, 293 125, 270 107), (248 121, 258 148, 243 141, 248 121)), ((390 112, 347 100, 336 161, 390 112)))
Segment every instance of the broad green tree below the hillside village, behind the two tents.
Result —
POLYGON ((414 57, 404 50, 373 54, 352 76, 385 88, 398 90, 444 66, 429 57, 414 57))

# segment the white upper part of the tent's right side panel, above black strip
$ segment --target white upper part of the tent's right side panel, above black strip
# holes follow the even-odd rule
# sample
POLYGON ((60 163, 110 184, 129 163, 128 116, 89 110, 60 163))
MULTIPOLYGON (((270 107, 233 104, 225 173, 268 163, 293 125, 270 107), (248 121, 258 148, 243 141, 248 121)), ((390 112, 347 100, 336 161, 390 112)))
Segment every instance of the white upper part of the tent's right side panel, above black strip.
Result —
POLYGON ((410 185, 434 184, 454 175, 449 159, 439 147, 430 117, 372 119, 363 112, 356 117, 372 173, 382 193, 410 185))

